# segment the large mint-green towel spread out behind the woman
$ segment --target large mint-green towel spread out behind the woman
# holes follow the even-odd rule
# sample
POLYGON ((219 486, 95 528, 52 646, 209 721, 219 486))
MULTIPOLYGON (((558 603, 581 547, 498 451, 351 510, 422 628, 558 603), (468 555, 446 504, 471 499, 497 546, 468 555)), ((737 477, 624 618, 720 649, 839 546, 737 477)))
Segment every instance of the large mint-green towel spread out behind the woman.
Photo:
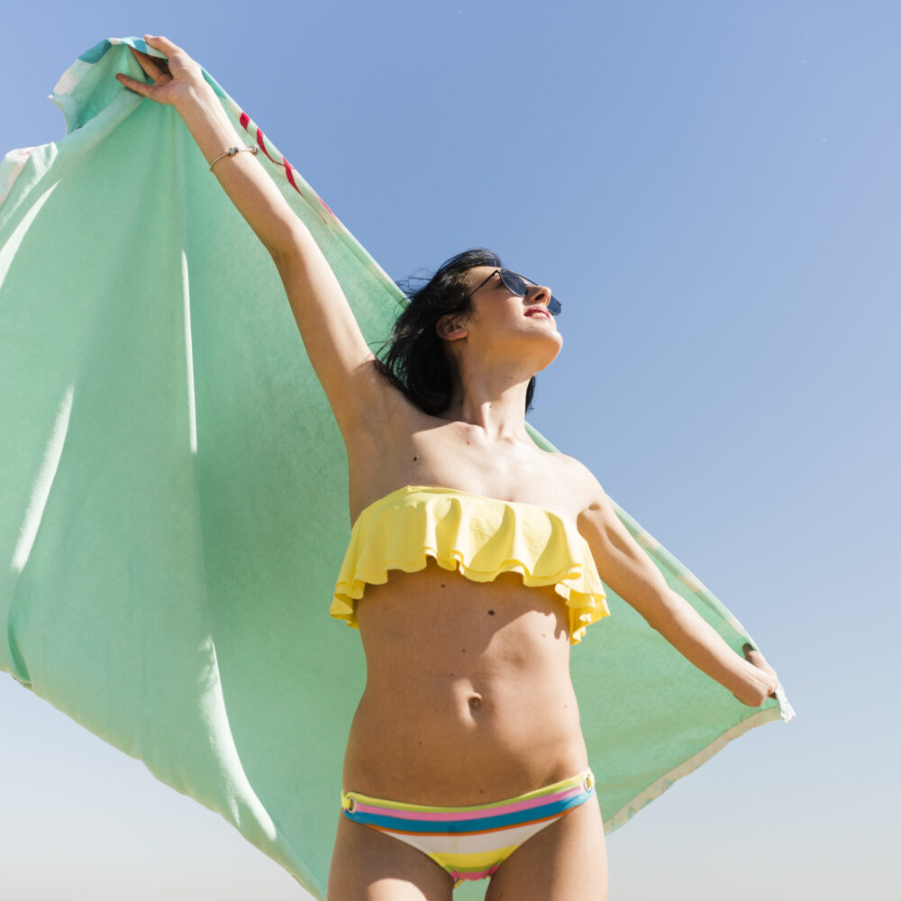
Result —
MULTIPOLYGON (((268 252, 175 110, 114 79, 142 77, 126 44, 156 53, 88 50, 52 95, 66 138, 0 165, 0 667, 323 897, 364 678, 359 634, 328 615, 347 461, 268 252)), ((205 77, 384 340, 399 289, 205 77)), ((733 615, 618 512, 741 651, 733 615)), ((741 705, 610 605, 572 654, 608 830, 791 715, 781 689, 741 705)))

